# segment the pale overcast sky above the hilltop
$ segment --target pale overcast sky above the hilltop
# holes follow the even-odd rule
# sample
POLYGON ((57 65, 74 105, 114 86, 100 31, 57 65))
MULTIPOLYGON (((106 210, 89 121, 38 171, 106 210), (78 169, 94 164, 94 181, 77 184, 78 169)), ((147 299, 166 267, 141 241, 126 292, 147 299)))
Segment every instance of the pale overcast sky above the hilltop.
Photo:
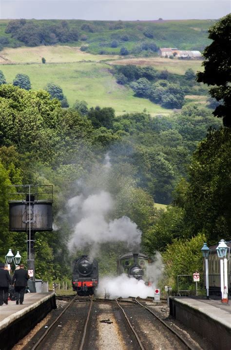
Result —
POLYGON ((0 0, 0 19, 219 19, 227 0, 0 0))

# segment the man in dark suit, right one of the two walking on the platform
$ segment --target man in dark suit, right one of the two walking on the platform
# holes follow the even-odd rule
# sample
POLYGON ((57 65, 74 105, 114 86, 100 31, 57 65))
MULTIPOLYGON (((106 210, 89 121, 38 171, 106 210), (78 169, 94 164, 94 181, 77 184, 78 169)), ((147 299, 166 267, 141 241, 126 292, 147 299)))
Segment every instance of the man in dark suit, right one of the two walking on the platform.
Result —
POLYGON ((23 303, 24 293, 27 286, 27 281, 29 279, 29 275, 26 270, 24 270, 24 265, 20 264, 20 269, 15 270, 12 284, 15 285, 15 296, 16 296, 16 304, 18 305, 23 303), (20 299, 19 299, 20 296, 20 299))

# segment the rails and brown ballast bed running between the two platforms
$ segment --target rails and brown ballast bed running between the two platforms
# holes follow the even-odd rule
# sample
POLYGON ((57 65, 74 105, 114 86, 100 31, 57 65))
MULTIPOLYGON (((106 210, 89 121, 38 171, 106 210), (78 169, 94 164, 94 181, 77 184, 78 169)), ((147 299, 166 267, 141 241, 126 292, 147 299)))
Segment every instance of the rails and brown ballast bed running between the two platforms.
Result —
POLYGON ((105 300, 77 295, 61 296, 58 299, 68 301, 68 305, 41 336, 38 334, 39 339, 37 335, 36 344, 27 349, 101 349, 100 339, 103 339, 102 344, 105 343, 105 334, 102 335, 102 330, 107 334, 110 333, 110 338, 111 332, 115 333, 115 329, 118 331, 116 336, 119 337, 117 340, 114 338, 118 344, 115 349, 149 350, 159 349, 159 346, 176 350, 195 349, 153 310, 143 304, 147 299, 105 300), (107 324, 112 325, 109 327, 107 324))

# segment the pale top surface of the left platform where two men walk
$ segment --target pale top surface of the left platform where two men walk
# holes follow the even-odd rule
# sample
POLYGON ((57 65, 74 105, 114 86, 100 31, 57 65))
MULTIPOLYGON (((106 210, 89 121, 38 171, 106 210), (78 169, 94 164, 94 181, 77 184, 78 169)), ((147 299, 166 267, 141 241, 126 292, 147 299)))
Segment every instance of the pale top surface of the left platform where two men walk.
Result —
POLYGON ((40 304, 49 298, 52 298, 55 292, 48 293, 26 293, 22 305, 16 305, 16 301, 8 301, 8 305, 0 306, 0 330, 7 327, 11 322, 21 317, 25 313, 37 308, 40 304))

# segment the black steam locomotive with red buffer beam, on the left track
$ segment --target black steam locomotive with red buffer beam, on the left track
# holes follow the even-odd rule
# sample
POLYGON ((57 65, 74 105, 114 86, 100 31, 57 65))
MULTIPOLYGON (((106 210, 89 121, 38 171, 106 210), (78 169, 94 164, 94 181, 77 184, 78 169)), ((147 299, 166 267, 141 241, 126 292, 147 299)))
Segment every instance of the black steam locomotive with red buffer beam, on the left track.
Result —
POLYGON ((72 287, 78 295, 92 295, 98 284, 98 262, 88 255, 73 261, 72 287))

